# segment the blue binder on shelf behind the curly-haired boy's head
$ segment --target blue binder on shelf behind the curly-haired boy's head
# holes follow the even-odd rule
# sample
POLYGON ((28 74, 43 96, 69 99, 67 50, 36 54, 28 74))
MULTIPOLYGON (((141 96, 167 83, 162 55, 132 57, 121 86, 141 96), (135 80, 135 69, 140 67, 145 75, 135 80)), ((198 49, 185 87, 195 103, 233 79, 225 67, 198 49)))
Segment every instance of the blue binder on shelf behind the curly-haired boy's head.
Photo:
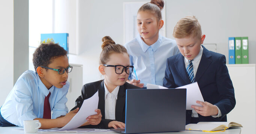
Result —
POLYGON ((41 41, 53 39, 54 43, 58 43, 69 54, 69 33, 41 33, 41 41))

